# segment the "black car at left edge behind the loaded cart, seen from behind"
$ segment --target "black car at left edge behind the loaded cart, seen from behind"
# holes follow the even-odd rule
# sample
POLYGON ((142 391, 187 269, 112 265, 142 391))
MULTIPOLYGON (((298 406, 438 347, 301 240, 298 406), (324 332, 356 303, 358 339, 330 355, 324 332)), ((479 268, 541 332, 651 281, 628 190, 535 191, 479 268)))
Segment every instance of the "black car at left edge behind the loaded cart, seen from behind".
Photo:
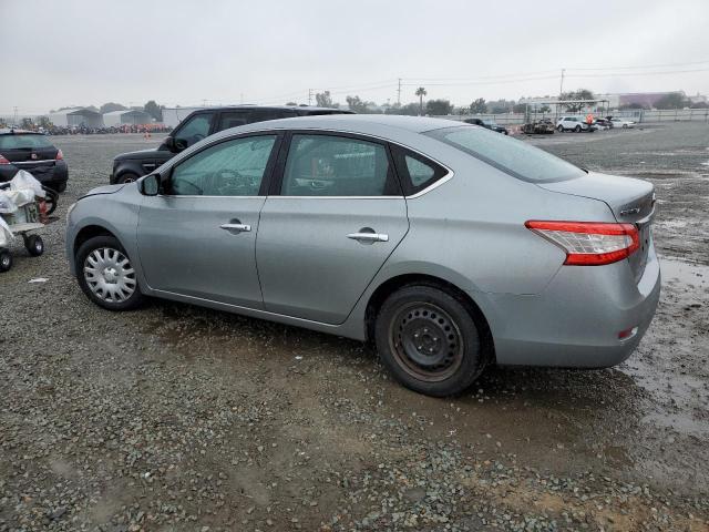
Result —
POLYGON ((43 133, 0 129, 0 183, 27 170, 43 185, 64 192, 69 171, 61 150, 43 133))

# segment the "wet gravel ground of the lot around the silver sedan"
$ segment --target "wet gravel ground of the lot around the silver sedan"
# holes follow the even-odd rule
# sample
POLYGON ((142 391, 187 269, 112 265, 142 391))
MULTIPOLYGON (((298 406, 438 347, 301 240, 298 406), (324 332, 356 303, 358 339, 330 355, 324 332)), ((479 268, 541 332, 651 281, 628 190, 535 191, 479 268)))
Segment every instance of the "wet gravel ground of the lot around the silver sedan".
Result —
POLYGON ((658 314, 618 368, 493 368, 449 400, 354 341, 90 304, 65 209, 156 142, 55 139, 60 222, 0 277, 0 531, 709 530, 706 124, 531 140, 658 186, 658 314))

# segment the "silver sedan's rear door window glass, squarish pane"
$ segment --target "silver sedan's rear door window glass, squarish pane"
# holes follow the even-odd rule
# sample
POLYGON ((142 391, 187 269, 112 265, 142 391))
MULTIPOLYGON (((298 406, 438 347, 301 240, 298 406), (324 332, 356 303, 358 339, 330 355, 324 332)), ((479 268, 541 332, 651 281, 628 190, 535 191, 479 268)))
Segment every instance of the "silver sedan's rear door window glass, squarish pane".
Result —
POLYGON ((281 185, 284 196, 400 196, 387 147, 335 135, 295 134, 281 185))

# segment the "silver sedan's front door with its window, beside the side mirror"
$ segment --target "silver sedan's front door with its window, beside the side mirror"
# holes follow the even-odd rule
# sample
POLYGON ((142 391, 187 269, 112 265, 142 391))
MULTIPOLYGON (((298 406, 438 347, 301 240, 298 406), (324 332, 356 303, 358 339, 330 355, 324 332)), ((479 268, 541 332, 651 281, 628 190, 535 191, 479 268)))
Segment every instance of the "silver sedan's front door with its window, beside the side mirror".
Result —
POLYGON ((179 161, 141 205, 137 243, 151 288, 261 308, 256 234, 279 136, 220 141, 179 161))

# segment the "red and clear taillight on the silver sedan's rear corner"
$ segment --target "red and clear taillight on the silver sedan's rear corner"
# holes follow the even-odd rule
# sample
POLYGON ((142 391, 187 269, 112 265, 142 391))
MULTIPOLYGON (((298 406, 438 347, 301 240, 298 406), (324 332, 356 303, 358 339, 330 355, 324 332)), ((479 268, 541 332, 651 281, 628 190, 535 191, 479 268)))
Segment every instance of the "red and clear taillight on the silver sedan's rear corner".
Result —
POLYGON ((564 264, 572 266, 617 263, 640 247, 640 235, 633 224, 530 221, 524 225, 564 249, 564 264))

